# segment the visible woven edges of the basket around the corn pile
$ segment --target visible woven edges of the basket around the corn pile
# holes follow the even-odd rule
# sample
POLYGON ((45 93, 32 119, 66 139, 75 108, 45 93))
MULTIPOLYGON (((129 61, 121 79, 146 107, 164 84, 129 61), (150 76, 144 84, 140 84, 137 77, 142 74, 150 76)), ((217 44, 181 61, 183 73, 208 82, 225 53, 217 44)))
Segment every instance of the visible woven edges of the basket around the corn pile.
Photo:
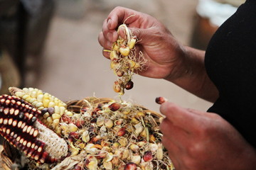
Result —
MULTIPOLYGON (((99 104, 105 104, 109 102, 113 102, 114 100, 112 98, 83 98, 82 100, 73 100, 66 102, 68 111, 73 111, 75 113, 80 113, 80 108, 86 107, 87 103, 85 100, 90 101, 90 103, 95 104, 95 106, 99 104)), ((151 113, 151 116, 154 118, 155 123, 159 125, 159 118, 162 118, 162 115, 160 113, 156 113, 154 111, 150 111, 147 108, 144 108, 143 106, 135 105, 138 108, 142 108, 142 111, 144 113, 151 113)), ((3 151, 1 152, 1 159, 2 159, 2 167, 5 170, 18 170, 17 167, 18 164, 21 163, 21 154, 18 152, 18 150, 13 147, 12 145, 9 145, 9 142, 6 140, 3 143, 3 151)), ((23 169, 26 169, 23 167, 23 169)))

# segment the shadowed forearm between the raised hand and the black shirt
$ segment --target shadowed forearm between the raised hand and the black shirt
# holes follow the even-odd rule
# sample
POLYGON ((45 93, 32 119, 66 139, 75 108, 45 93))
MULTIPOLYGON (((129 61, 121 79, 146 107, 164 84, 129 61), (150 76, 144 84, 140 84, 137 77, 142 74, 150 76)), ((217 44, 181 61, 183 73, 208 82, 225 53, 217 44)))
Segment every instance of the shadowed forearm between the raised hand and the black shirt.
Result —
POLYGON ((205 52, 191 47, 185 47, 181 65, 176 68, 178 77, 167 77, 186 91, 207 101, 214 102, 218 98, 218 90, 210 81, 204 65, 205 52))

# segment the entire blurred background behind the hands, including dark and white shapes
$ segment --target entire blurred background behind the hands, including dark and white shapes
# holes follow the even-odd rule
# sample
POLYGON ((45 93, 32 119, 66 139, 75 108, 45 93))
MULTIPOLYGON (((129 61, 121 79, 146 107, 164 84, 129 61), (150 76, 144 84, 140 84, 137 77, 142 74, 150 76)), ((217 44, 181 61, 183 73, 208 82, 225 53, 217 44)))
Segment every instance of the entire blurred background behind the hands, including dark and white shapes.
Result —
MULTIPOLYGON (((206 49, 218 26, 242 0, 0 0, 0 85, 35 87, 63 101, 87 96, 118 98, 117 79, 102 56, 97 35, 115 6, 149 13, 184 45, 206 49)), ((186 108, 206 111, 203 101, 162 79, 134 75, 122 99, 159 111, 164 96, 186 108)), ((210 89, 209 89, 210 90, 210 89)))

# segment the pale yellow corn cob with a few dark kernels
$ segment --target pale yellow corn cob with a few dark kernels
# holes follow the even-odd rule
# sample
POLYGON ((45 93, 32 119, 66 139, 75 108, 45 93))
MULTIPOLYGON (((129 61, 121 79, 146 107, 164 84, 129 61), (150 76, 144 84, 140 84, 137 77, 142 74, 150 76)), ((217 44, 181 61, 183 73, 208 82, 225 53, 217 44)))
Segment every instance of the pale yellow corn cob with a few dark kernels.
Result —
POLYGON ((58 134, 60 134, 59 123, 62 115, 73 115, 67 110, 67 105, 63 101, 39 89, 10 87, 9 91, 12 95, 22 98, 41 111, 40 120, 58 134))

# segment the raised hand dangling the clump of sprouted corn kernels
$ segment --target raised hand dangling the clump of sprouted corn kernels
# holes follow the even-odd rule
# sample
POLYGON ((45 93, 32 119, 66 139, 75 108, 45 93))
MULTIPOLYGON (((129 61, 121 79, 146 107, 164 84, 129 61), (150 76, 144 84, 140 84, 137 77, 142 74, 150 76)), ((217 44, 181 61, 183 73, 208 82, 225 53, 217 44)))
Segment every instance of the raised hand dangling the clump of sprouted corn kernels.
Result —
MULTIPOLYGON (((183 47, 178 44, 162 23, 145 13, 122 7, 114 8, 103 23, 102 32, 98 37, 100 45, 104 49, 110 50, 112 42, 118 38, 116 29, 124 21, 139 39, 137 52, 142 51, 148 60, 146 72, 139 74, 159 79, 169 77, 171 74, 175 76, 174 68, 181 69, 178 65, 181 65, 182 62, 183 47)), ((110 52, 103 51, 103 55, 109 58, 110 52)))

